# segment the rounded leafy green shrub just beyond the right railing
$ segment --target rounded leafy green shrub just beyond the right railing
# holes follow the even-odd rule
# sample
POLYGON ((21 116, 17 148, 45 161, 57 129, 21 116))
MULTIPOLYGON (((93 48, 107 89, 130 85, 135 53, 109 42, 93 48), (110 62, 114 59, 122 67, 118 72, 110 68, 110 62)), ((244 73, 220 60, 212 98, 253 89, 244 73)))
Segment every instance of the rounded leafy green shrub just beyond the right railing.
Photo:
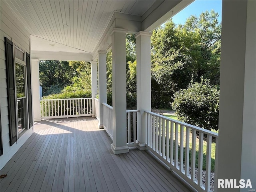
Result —
POLYGON ((178 119, 207 130, 218 130, 220 91, 201 78, 201 82, 188 85, 174 94, 172 108, 178 119))

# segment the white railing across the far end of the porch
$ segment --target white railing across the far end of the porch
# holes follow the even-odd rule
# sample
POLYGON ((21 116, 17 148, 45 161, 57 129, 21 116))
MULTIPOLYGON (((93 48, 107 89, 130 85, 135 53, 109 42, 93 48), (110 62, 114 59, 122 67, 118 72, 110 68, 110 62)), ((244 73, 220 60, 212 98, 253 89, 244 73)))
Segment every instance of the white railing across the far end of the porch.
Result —
POLYGON ((92 98, 44 99, 40 103, 44 119, 92 115, 92 98))

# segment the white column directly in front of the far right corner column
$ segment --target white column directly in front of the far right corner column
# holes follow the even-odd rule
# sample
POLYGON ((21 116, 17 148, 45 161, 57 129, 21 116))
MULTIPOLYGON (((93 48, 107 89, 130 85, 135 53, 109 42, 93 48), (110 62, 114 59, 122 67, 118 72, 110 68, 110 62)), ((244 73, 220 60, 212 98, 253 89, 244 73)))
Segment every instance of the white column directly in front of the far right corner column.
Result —
POLYGON ((106 65, 106 51, 98 51, 98 78, 99 78, 99 128, 103 128, 103 105, 107 103, 107 65, 106 65))

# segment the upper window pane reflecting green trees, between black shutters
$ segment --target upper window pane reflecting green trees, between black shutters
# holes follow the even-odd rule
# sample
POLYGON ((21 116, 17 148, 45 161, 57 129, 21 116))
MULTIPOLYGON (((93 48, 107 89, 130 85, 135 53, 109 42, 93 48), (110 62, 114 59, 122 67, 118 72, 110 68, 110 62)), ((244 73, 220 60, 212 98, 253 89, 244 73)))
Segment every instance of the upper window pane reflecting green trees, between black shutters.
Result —
POLYGON ((25 66, 15 64, 17 98, 25 96, 25 66))

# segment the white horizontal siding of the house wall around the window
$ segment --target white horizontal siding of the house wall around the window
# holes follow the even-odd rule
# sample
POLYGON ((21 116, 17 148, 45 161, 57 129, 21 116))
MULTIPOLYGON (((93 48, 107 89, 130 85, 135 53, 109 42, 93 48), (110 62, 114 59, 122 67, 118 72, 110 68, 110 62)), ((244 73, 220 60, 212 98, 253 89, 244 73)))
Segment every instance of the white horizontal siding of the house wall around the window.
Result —
POLYGON ((22 24, 18 22, 17 18, 6 6, 5 2, 1 2, 0 4, 0 14, 0 101, 4 152, 4 154, 0 156, 0 169, 2 169, 22 144, 24 144, 24 142, 30 137, 33 130, 31 128, 26 131, 16 143, 10 146, 4 37, 12 40, 14 44, 29 53, 30 34, 23 28, 22 24), (18 24, 16 22, 18 22, 18 24))

